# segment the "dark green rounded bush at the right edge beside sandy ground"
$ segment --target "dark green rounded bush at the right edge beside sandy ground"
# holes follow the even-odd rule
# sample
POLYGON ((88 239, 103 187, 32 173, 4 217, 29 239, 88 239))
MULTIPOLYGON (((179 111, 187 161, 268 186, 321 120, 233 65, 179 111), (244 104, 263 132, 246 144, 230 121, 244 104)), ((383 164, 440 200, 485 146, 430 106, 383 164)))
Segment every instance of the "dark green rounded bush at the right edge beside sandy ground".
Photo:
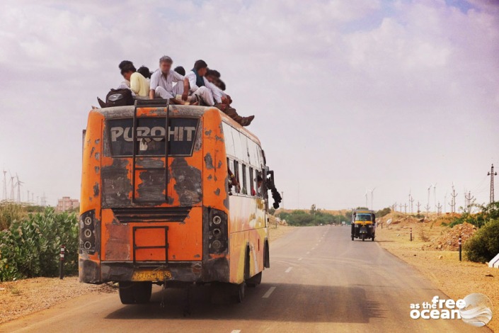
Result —
POLYGON ((490 261, 499 253, 499 220, 491 220, 464 243, 469 261, 490 261))

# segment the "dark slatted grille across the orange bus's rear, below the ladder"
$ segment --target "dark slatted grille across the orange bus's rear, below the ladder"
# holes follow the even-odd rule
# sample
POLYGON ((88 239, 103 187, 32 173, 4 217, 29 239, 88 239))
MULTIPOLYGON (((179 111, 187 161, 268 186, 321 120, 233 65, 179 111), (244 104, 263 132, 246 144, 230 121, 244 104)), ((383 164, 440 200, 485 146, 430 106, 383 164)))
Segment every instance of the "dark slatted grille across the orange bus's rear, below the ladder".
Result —
POLYGON ((160 208, 113 208, 119 222, 183 222, 189 215, 190 207, 160 208))

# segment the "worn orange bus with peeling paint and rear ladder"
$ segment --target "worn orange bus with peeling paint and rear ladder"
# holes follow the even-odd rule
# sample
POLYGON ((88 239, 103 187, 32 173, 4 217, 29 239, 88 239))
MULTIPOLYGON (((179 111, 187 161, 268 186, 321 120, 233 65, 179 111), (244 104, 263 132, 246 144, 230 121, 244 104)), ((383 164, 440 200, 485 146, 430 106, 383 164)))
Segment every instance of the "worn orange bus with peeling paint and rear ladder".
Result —
POLYGON ((277 191, 265 164, 258 138, 217 108, 155 99, 93 109, 79 280, 118 282, 124 304, 149 302, 153 283, 222 283, 241 301, 270 267, 268 190, 277 191))

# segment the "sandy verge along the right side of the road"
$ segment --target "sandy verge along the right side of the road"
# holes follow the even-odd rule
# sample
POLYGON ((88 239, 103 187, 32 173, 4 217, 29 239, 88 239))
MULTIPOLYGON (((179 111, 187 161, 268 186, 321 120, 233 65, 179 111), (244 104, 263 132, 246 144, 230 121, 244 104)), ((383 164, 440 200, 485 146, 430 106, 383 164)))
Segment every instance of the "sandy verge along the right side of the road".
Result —
POLYGON ((493 303, 493 312, 495 312, 488 327, 494 332, 499 332, 499 269, 466 261, 464 252, 463 261, 459 261, 457 251, 428 250, 425 247, 432 239, 440 237, 447 230, 448 227, 432 222, 402 221, 388 227, 384 224, 383 229, 378 227, 376 235, 377 242, 384 249, 415 266, 449 298, 457 300, 470 293, 487 295, 493 303), (411 227, 413 242, 410 241, 411 227), (423 239, 427 241, 424 242, 423 239))

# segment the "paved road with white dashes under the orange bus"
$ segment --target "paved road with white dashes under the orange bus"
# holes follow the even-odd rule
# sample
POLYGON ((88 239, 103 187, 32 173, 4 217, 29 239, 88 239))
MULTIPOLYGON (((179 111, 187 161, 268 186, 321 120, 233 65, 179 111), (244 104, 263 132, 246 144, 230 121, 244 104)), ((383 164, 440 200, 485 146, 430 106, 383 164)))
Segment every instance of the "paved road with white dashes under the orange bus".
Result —
MULTIPOLYGON (((0 332, 474 332, 461 320, 412 320, 409 305, 445 298, 377 242, 352 242, 348 227, 303 227, 271 244, 271 269, 241 304, 210 303, 193 288, 154 289, 151 304, 84 295, 0 326, 0 332)), ((487 329, 477 329, 488 332, 487 329)))

